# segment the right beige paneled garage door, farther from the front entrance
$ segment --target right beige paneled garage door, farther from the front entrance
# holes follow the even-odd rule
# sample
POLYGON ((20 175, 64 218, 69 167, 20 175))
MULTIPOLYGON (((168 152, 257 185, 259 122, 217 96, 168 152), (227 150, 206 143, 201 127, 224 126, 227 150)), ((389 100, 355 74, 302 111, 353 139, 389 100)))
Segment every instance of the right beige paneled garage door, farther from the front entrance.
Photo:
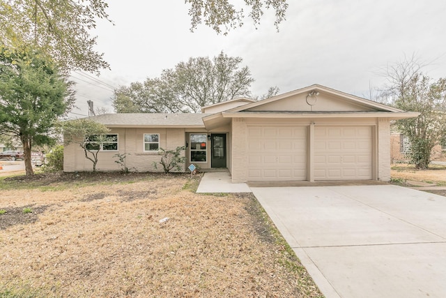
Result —
POLYGON ((371 126, 316 126, 314 179, 371 179, 371 147, 371 126))

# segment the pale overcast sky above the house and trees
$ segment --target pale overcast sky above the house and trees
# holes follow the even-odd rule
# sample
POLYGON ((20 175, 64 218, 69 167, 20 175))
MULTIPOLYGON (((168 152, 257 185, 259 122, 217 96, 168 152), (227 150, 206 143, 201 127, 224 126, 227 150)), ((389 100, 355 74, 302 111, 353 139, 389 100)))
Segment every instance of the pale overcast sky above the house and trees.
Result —
POLYGON ((249 67, 254 96, 273 86, 284 93, 322 84, 367 98, 370 84, 385 82, 383 67, 413 54, 430 62, 428 75, 446 76, 445 0, 289 0, 279 32, 266 12, 258 29, 247 18, 227 36, 203 25, 190 32, 183 0, 107 3, 115 25, 101 20, 93 35, 95 50, 104 52, 112 69, 95 77, 105 84, 73 73, 78 108, 70 117, 88 115, 86 100, 114 112, 112 87, 159 77, 180 61, 221 51, 249 67))

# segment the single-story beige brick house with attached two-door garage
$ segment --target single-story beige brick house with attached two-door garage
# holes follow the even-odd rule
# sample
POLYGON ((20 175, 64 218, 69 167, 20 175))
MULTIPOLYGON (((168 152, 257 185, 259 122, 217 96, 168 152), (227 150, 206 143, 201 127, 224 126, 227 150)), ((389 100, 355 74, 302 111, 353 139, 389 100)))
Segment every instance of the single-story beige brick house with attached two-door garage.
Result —
MULTIPOLYGON (((228 168, 232 181, 390 180, 390 121, 417 117, 318 84, 265 100, 203 107, 202 114, 103 114, 111 129, 97 169, 154 171, 158 149, 185 146, 184 170, 228 168)), ((64 149, 66 172, 89 171, 82 149, 64 149)), ((188 170, 187 170, 188 171, 188 170)))

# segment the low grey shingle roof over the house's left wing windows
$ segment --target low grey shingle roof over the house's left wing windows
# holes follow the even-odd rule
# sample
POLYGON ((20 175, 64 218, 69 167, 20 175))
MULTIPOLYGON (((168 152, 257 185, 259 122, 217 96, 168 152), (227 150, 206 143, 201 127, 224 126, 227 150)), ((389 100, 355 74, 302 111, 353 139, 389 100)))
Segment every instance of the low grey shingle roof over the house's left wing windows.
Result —
POLYGON ((89 119, 110 127, 132 126, 170 126, 170 127, 204 127, 203 117, 210 114, 203 113, 123 113, 102 114, 89 119))

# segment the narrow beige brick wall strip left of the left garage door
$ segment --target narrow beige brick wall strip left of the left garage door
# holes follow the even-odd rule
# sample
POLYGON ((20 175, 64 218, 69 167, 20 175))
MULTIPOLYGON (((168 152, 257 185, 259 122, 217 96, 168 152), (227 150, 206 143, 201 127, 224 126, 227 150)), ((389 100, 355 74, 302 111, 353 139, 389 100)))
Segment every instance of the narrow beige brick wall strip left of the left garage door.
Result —
POLYGON ((246 121, 244 118, 232 119, 231 175, 233 183, 247 181, 246 121))

